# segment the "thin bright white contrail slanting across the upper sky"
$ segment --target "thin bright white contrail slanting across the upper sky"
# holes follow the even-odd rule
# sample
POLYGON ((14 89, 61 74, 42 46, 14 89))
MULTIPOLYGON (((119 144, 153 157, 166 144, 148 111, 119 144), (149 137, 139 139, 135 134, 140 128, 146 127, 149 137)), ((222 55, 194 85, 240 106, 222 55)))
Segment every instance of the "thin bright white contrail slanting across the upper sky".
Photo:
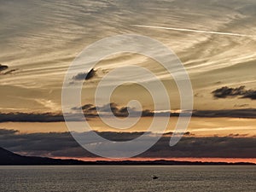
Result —
POLYGON ((201 31, 201 30, 195 30, 195 29, 183 29, 183 28, 174 28, 174 27, 165 27, 165 26, 141 26, 141 25, 131 25, 131 26, 154 28, 154 29, 167 29, 167 30, 180 31, 180 32, 201 32, 201 33, 230 35, 230 36, 238 36, 238 37, 251 37, 251 38, 255 37, 253 35, 246 35, 246 34, 239 34, 239 33, 232 33, 232 32, 209 32, 209 31, 201 31))

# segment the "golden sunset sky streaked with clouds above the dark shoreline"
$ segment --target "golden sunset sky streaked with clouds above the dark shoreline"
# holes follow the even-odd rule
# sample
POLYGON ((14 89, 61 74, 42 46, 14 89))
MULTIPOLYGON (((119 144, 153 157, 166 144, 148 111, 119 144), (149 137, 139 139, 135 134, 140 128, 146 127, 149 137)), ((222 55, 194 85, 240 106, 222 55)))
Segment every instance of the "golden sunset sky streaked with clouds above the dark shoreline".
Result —
MULTIPOLYGON (((124 118, 122 109, 127 103, 139 101, 145 115, 137 125, 120 133, 96 114, 96 107, 104 111, 104 106, 95 103, 101 79, 115 68, 132 64, 147 68, 161 80, 172 107, 166 135, 139 157, 256 158, 254 0, 0 2, 1 147, 28 155, 95 157, 68 133, 61 115, 63 80, 85 47, 102 38, 133 33, 165 44, 187 70, 194 91, 187 133, 177 146, 168 146, 181 107, 177 84, 160 63, 132 53, 103 58, 91 79, 84 80, 88 71, 73 77, 74 82, 84 80, 81 104, 93 130, 111 138, 119 133, 121 140, 127 134, 137 137, 147 131, 153 114, 160 112, 154 110, 152 96, 142 86, 123 84, 109 102, 119 118, 124 118)), ((126 76, 154 83, 136 71, 124 71, 116 79, 126 76)), ((164 110, 166 103, 161 106, 164 110)))

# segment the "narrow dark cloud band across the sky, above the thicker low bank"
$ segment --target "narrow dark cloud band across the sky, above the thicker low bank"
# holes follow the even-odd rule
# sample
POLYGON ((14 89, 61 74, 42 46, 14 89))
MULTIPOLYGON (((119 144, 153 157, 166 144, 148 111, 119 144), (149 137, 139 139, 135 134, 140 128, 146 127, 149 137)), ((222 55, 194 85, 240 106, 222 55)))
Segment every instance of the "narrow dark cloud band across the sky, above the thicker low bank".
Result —
MULTIPOLYGON (((135 108, 129 107, 119 107, 116 103, 110 103, 110 108, 116 117, 127 117, 128 109, 131 112, 131 116, 134 117, 162 117, 169 115, 170 117, 178 117, 180 115, 186 116, 188 112, 182 113, 172 113, 171 111, 166 112, 154 112, 149 109, 145 109, 142 112, 137 111, 135 108)), ((99 113, 108 117, 107 105, 98 107, 99 113)), ((68 120, 70 121, 80 121, 84 120, 79 119, 80 115, 78 114, 79 108, 73 108, 73 113, 67 113, 69 116, 68 120)), ((82 107, 84 116, 87 117, 87 120, 98 116, 96 106, 92 104, 86 104, 82 107)), ((256 109, 255 108, 239 108, 239 109, 222 109, 222 110, 194 110, 192 117, 201 117, 201 118, 256 118, 256 109)), ((62 113, 0 113, 0 122, 62 122, 65 121, 62 113)))

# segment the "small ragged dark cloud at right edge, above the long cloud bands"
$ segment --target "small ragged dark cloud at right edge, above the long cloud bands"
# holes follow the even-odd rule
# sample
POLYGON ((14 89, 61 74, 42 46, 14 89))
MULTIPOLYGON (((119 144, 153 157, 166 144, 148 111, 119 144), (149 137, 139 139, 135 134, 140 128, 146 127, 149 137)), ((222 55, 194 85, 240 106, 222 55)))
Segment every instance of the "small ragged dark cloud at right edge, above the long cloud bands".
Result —
POLYGON ((215 98, 229 98, 240 96, 240 98, 249 98, 254 100, 256 99, 256 90, 246 90, 245 86, 240 86, 237 88, 230 88, 225 86, 217 90, 213 90, 212 95, 215 98))

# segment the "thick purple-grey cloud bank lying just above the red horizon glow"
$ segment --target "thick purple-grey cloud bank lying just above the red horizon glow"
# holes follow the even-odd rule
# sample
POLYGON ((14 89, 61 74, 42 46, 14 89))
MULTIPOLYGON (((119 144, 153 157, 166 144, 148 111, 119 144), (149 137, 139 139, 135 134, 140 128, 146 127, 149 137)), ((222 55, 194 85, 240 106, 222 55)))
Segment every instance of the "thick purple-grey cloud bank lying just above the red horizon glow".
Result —
MULTIPOLYGON (((0 131, 0 146, 26 155, 61 156, 61 157, 95 157, 76 143, 69 132, 17 134, 17 131, 0 131)), ((143 132, 97 132, 102 137, 113 141, 129 141, 139 137, 143 132)), ((86 134, 86 133, 77 133, 86 134)), ((174 147, 169 146, 172 133, 165 134, 152 148, 140 157, 223 157, 256 158, 256 137, 195 137, 189 132, 174 147)), ((154 137, 147 133, 148 140, 154 137)), ((88 141, 95 143, 95 141, 88 141)), ((139 144, 139 143, 138 143, 139 144)), ((111 150, 111 148, 109 149, 111 150)))

